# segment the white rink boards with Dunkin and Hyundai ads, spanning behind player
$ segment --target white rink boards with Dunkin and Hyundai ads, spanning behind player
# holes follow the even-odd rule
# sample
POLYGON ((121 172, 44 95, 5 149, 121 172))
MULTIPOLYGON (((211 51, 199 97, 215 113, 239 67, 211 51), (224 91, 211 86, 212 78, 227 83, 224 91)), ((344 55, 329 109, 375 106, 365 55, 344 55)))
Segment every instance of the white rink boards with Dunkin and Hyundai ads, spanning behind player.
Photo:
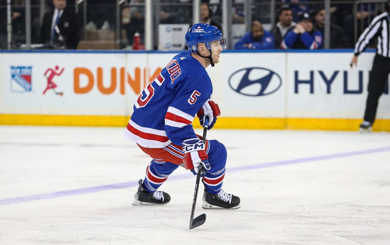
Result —
MULTIPOLYGON (((0 114, 128 116, 176 53, 0 53, 0 114)), ((207 71, 229 118, 361 119, 374 53, 224 52, 207 71)), ((390 119, 389 83, 378 119, 390 119)))

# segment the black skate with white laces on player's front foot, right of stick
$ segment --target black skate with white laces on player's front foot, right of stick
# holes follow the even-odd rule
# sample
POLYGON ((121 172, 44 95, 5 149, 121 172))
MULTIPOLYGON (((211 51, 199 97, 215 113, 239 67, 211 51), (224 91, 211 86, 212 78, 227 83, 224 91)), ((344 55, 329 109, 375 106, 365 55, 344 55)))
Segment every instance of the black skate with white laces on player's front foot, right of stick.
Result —
POLYGON ((226 208, 236 209, 240 206, 240 198, 226 193, 221 189, 217 194, 211 194, 206 189, 203 194, 203 208, 226 208))

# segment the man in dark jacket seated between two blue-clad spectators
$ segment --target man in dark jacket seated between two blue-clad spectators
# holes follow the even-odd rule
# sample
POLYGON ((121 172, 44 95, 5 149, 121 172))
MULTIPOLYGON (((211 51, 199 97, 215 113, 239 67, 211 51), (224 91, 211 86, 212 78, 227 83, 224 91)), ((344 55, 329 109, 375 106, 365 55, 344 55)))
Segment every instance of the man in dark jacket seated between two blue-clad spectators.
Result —
POLYGON ((287 31, 296 25, 296 23, 292 21, 292 10, 289 5, 285 4, 280 7, 278 19, 279 21, 271 29, 271 33, 275 39, 275 48, 280 49, 280 44, 286 36, 287 31))

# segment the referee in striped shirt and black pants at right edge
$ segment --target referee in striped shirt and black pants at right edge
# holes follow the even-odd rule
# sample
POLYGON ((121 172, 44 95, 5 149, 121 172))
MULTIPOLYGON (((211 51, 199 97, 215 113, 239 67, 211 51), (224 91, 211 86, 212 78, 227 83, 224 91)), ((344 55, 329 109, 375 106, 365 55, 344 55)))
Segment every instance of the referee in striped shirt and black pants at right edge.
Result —
POLYGON ((390 1, 387 12, 375 17, 370 25, 364 30, 359 40, 356 42, 355 50, 351 60, 352 65, 357 64, 358 55, 364 51, 372 38, 377 38, 376 55, 372 63, 372 69, 369 78, 368 92, 366 102, 366 112, 364 121, 360 124, 360 132, 370 132, 375 120, 378 99, 385 90, 385 84, 390 73, 390 1))

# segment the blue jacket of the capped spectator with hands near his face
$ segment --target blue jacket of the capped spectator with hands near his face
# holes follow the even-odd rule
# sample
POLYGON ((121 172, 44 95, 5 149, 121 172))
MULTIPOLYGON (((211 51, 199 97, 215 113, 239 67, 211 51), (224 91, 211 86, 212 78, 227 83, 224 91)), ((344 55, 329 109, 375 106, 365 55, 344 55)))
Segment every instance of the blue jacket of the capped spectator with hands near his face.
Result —
POLYGON ((280 46, 282 49, 319 49, 322 47, 322 42, 322 34, 316 29, 302 34, 296 34, 291 30, 286 34, 280 46))

